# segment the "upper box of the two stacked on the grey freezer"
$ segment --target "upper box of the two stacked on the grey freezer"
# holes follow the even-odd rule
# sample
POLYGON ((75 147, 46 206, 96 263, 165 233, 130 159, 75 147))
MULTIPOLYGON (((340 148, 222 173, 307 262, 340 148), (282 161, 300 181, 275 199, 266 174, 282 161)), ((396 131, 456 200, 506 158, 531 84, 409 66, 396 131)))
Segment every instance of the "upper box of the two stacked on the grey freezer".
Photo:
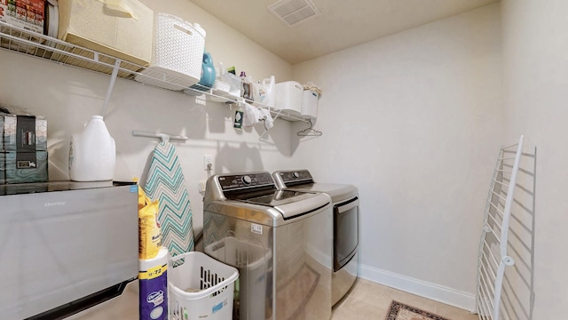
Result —
POLYGON ((47 150, 47 120, 43 116, 0 114, 1 150, 47 150))

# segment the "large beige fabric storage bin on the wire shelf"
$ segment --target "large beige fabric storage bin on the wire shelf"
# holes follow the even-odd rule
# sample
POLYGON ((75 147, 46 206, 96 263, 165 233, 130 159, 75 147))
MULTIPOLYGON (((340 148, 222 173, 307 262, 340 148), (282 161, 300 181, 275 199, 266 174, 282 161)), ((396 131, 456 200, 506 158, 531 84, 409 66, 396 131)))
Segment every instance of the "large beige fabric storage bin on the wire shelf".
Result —
POLYGON ((146 5, 137 0, 58 3, 59 39, 141 66, 150 63, 154 12, 146 5))

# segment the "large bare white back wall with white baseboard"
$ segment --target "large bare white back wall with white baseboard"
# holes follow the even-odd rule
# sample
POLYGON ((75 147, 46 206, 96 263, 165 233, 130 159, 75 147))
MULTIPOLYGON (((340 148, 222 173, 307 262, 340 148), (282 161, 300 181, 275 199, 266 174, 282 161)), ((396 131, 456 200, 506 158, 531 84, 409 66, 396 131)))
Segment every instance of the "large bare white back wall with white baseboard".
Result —
POLYGON ((501 144, 500 41, 492 4, 294 66, 323 88, 324 132, 294 140, 294 163, 359 187, 361 276, 474 308, 501 144))

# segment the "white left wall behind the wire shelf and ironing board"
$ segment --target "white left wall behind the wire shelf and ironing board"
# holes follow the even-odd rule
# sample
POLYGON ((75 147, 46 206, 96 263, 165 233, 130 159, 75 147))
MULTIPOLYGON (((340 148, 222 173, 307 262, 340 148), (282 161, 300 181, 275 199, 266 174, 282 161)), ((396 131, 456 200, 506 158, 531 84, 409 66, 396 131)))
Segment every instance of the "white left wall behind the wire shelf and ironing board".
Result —
MULTIPOLYGON (((185 0, 162 3, 143 1, 154 12, 168 12, 207 31, 206 47, 214 61, 234 65, 260 79, 275 75, 288 79, 291 66, 220 20, 185 0), (253 59, 254 57, 254 59, 253 59)), ((17 53, 0 51, 0 104, 27 108, 48 119, 50 180, 66 180, 69 137, 79 132, 91 115, 101 112, 109 76, 60 66, 17 53)), ((105 116, 116 140, 117 166, 114 180, 145 177, 158 140, 132 137, 130 132, 166 132, 187 135, 175 142, 177 155, 190 193, 194 228, 202 228, 202 198, 198 181, 207 179, 203 156, 214 156, 214 173, 275 171, 290 162, 290 123, 277 120, 259 142, 263 124, 242 131, 233 129, 235 109, 224 103, 204 102, 177 92, 156 89, 118 79, 105 116)))

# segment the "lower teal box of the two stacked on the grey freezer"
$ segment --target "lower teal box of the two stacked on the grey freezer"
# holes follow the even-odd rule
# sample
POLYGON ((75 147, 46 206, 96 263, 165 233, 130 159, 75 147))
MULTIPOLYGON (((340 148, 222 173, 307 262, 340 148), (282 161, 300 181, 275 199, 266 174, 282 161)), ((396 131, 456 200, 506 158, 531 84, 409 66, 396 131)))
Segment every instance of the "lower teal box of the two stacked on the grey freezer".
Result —
POLYGON ((0 151, 0 184, 47 180, 47 151, 0 151))

